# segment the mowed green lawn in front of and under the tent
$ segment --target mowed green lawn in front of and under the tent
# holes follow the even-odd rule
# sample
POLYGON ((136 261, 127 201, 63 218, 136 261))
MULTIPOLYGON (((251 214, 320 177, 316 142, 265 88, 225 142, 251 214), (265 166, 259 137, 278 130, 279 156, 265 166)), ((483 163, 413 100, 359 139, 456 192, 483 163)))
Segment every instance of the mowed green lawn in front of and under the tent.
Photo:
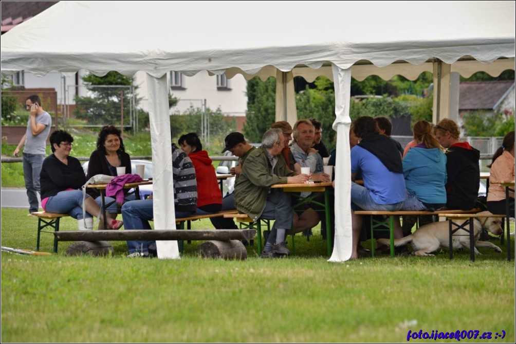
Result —
MULTIPOLYGON (((37 219, 26 214, 2 209, 3 246, 35 249, 37 219)), ((76 226, 61 222, 61 230, 76 226)), ((42 234, 41 251, 52 252, 52 238, 42 234)), ((514 260, 492 242, 504 253, 480 248, 475 262, 441 251, 330 263, 319 229, 310 242, 296 237, 296 256, 272 260, 258 258, 256 246, 244 261, 202 259, 199 242, 185 244, 179 260, 129 259, 124 242, 112 242, 113 258, 65 256, 66 242, 52 256, 2 252, 1 339, 406 342, 409 331, 478 330, 491 339, 460 341, 514 342, 514 260)))

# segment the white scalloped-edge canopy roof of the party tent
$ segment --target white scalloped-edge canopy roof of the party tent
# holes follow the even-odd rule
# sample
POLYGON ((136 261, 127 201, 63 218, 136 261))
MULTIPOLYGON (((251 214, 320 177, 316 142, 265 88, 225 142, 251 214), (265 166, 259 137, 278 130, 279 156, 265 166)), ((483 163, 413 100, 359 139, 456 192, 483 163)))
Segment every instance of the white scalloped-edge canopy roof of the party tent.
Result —
POLYGON ((514 2, 441 4, 61 1, 2 37, 2 71, 275 75, 328 62, 514 58, 514 2))

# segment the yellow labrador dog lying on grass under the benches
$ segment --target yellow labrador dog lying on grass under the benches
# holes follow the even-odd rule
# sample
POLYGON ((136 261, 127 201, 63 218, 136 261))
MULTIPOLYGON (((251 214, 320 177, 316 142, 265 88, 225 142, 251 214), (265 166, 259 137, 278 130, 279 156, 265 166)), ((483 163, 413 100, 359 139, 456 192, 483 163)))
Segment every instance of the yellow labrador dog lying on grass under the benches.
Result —
MULTIPOLYGON (((491 214, 489 211, 481 212, 480 214, 491 214)), ((458 224, 463 224, 464 220, 454 221, 458 224)), ((478 241, 482 228, 487 229, 491 233, 499 236, 502 234, 502 219, 499 217, 480 217, 474 218, 473 233, 475 240, 475 255, 480 254, 476 247, 491 247, 494 251, 502 252, 502 250, 489 241, 478 241)), ((389 245, 389 239, 378 239, 378 243, 389 245)), ((401 246, 412 243, 416 256, 433 256, 431 253, 437 251, 439 247, 449 248, 449 223, 448 221, 434 222, 428 225, 421 226, 415 232, 401 239, 394 239, 394 246, 401 246)), ((459 229, 452 238, 453 248, 465 247, 470 249, 469 234, 459 229)))

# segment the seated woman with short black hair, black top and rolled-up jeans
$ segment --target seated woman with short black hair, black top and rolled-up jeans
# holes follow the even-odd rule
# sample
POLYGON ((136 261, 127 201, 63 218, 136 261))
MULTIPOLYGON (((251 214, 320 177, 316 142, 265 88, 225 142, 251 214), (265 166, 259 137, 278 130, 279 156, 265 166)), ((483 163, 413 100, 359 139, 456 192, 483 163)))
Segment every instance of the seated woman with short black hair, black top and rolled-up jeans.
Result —
MULTIPOLYGON (((78 220, 79 230, 93 229, 92 216, 99 216, 99 229, 103 229, 104 218, 99 205, 92 197, 84 200, 86 218, 83 218, 83 192, 86 183, 83 167, 70 156, 73 137, 63 130, 50 135, 52 154, 46 157, 41 168, 41 206, 50 213, 69 214, 78 220)), ((118 229, 121 221, 108 222, 106 229, 118 229)))

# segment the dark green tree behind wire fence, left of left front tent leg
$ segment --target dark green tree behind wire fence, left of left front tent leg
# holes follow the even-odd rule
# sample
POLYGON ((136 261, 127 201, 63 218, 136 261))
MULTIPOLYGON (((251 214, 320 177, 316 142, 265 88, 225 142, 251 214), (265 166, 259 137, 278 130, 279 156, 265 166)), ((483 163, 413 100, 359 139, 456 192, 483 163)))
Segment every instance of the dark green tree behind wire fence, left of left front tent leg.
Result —
POLYGON ((137 87, 132 86, 133 78, 127 77, 119 72, 111 71, 104 76, 88 74, 83 81, 92 97, 75 97, 74 115, 78 119, 87 120, 89 124, 117 124, 120 123, 121 109, 123 103, 124 123, 131 118, 131 101, 134 98, 135 106, 140 99, 136 97, 137 87), (95 87, 108 86, 108 87, 95 87))

